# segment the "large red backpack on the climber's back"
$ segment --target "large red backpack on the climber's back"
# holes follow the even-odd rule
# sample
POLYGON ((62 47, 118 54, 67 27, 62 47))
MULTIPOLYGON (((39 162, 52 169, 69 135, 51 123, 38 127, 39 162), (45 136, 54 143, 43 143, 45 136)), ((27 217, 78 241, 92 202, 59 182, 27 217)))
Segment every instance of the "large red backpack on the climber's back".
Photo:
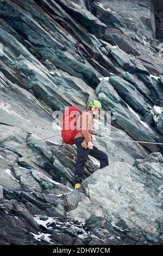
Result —
MULTIPOLYGON (((87 111, 87 110, 86 110, 87 111)), ((76 130, 77 118, 82 114, 82 111, 79 110, 77 106, 70 106, 66 109, 64 114, 62 115, 61 120, 61 136, 62 140, 66 144, 73 145, 74 137, 81 130, 76 130)))

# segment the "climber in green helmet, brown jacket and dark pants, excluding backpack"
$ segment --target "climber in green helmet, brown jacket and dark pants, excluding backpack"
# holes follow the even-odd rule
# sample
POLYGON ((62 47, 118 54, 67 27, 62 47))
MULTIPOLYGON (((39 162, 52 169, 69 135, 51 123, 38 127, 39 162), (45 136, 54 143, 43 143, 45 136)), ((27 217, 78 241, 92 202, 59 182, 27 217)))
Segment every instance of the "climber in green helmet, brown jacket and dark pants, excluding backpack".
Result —
POLYGON ((96 140, 95 135, 91 134, 92 126, 94 127, 94 118, 99 114, 101 110, 101 103, 98 100, 91 100, 89 102, 86 111, 82 112, 77 118, 77 130, 81 131, 74 137, 74 143, 77 146, 77 161, 75 166, 75 189, 78 189, 83 182, 84 176, 84 164, 87 158, 90 156, 95 157, 100 161, 99 169, 104 168, 109 165, 108 156, 101 150, 98 150, 96 146, 93 145, 93 141, 96 140))

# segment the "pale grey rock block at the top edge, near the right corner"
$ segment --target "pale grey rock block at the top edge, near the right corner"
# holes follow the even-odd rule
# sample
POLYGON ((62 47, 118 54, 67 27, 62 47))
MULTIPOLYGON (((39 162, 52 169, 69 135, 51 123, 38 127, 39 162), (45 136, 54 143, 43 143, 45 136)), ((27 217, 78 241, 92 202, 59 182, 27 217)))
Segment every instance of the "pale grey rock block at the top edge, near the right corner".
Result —
POLYGON ((131 31, 136 31, 138 35, 141 34, 147 38, 154 37, 155 21, 150 0, 143 3, 139 0, 135 2, 122 0, 121 3, 116 0, 109 2, 106 0, 96 0, 95 7, 101 14, 99 19, 103 22, 108 24, 106 19, 108 18, 109 21, 111 15, 111 17, 114 17, 114 20, 110 23, 115 27, 124 27, 131 31), (146 31, 146 27, 148 28, 148 32, 146 31))

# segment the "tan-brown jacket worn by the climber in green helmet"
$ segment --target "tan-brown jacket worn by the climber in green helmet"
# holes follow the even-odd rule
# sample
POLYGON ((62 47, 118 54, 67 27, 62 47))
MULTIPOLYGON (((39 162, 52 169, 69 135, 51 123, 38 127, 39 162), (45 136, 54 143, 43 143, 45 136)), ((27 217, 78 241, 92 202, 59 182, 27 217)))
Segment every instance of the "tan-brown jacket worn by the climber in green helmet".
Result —
POLYGON ((74 139, 83 137, 87 142, 92 141, 91 130, 93 127, 94 117, 91 111, 84 111, 82 115, 77 118, 77 130, 81 129, 81 132, 77 133, 74 139))

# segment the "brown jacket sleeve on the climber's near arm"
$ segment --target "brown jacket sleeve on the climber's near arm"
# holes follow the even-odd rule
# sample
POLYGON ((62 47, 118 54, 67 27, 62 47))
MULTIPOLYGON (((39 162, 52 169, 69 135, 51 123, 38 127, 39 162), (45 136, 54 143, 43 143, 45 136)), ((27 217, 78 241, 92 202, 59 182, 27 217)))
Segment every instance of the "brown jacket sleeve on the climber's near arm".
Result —
POLYGON ((87 142, 92 141, 92 115, 90 112, 83 112, 81 116, 82 134, 87 142))

